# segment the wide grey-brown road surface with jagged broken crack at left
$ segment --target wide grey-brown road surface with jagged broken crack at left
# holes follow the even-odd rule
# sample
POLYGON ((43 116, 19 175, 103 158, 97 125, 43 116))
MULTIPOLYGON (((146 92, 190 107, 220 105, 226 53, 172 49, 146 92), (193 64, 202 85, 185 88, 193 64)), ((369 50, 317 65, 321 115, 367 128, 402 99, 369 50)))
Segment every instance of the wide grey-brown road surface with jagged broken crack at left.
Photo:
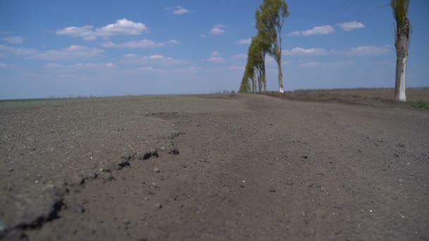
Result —
POLYGON ((429 111, 117 97, 0 124, 4 239, 429 239, 429 111))

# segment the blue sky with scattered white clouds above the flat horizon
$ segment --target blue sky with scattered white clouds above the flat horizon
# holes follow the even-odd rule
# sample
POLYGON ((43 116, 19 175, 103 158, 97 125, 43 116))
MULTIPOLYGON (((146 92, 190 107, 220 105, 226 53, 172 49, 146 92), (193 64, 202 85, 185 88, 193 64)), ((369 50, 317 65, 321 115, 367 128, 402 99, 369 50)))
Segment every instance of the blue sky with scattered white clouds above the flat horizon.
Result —
MULTIPOLYGON (((236 90, 261 2, 1 0, 0 99, 236 90)), ((394 86, 389 0, 287 3, 286 90, 394 86)), ((411 1, 409 87, 429 86, 428 11, 411 1)))

